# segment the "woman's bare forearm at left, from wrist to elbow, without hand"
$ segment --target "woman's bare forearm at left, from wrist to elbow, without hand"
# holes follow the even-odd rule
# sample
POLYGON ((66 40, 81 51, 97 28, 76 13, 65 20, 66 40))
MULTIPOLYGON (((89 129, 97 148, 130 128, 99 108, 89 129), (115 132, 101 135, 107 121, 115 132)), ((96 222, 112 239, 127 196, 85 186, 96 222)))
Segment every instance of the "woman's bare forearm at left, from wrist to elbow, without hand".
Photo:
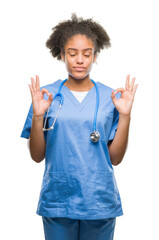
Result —
POLYGON ((35 162, 45 158, 45 139, 43 132, 43 117, 32 118, 32 128, 29 139, 30 155, 35 162))

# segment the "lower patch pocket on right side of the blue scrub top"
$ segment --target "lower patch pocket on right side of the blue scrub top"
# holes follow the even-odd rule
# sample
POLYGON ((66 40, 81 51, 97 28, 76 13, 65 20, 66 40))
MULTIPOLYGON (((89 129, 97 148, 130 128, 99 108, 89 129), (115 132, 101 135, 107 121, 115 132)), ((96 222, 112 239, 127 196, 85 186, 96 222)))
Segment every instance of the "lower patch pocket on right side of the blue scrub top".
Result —
POLYGON ((97 172, 95 184, 96 205, 99 208, 114 208, 117 204, 117 185, 113 172, 97 172))

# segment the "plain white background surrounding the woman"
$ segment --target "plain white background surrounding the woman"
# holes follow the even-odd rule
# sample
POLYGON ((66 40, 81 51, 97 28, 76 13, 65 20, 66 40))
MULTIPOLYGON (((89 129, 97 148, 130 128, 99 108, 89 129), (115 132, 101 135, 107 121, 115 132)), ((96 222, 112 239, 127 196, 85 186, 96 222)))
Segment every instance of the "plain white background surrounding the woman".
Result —
MULTIPOLYGON (((41 86, 65 79, 62 62, 45 42, 61 20, 94 18, 108 32, 112 47, 103 50, 91 77, 112 88, 126 75, 139 84, 132 110, 129 145, 114 167, 124 215, 117 218, 115 240, 159 239, 158 1, 3 1, 0 4, 1 168, 0 239, 44 239, 36 215, 44 161, 31 160, 20 134, 31 103, 30 77, 41 86)), ((90 239, 89 239, 90 240, 90 239)))

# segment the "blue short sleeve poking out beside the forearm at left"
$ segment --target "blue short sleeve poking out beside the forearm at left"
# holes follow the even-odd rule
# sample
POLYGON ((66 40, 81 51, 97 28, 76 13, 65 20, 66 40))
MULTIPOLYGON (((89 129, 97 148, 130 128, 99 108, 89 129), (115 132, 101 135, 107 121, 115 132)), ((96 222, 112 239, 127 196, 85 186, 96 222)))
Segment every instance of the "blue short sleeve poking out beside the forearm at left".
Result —
POLYGON ((22 137, 22 138, 27 138, 27 139, 30 137, 31 126, 32 126, 32 116, 33 116, 33 106, 32 106, 32 104, 31 104, 20 137, 22 137))

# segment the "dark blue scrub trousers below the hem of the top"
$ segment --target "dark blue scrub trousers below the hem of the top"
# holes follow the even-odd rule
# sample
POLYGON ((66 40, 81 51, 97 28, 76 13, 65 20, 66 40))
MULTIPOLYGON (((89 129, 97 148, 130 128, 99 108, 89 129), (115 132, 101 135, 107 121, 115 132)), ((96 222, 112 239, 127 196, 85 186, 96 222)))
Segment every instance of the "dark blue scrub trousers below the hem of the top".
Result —
POLYGON ((45 240, 113 240, 116 218, 75 220, 42 217, 45 240))

